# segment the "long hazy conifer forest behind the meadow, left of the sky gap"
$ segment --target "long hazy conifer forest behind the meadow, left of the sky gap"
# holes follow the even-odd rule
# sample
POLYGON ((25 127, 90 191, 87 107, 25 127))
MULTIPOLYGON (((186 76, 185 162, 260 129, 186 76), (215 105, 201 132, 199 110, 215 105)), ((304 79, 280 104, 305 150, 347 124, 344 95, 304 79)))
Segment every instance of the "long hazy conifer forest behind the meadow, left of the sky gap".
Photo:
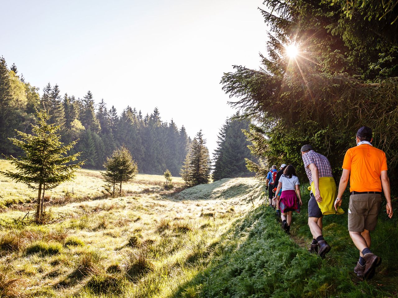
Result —
POLYGON ((120 115, 114 106, 107 107, 102 99, 94 104, 94 96, 88 91, 83 98, 61 95, 59 85, 48 83, 42 95, 39 89, 25 82, 13 64, 10 70, 4 58, 0 61, 0 152, 4 155, 19 154, 8 137, 15 130, 31 132, 36 123, 35 108, 45 109, 51 115, 50 122, 60 125, 59 134, 64 143, 78 139, 72 153, 82 152, 86 168, 102 168, 106 157, 124 145, 132 153, 140 172, 162 174, 166 168, 178 175, 187 155, 191 139, 184 126, 163 122, 157 108, 143 115, 140 110, 127 106, 120 115))

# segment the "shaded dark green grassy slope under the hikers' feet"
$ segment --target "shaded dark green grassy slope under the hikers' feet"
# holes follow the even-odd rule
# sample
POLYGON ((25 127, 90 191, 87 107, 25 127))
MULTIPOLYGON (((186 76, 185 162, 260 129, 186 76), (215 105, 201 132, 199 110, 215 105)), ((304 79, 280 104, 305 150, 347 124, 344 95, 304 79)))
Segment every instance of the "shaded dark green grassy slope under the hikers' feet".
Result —
MULTIPOLYGON (((295 214, 292 232, 309 243, 306 204, 308 200, 301 214, 295 214)), ((332 251, 323 260, 284 234, 273 209, 261 205, 224 234, 205 269, 181 283, 170 297, 396 296, 396 225, 380 219, 373 239, 375 253, 384 258, 385 265, 372 281, 362 282, 353 273, 357 250, 349 239, 346 217, 325 218, 324 234, 332 251)))

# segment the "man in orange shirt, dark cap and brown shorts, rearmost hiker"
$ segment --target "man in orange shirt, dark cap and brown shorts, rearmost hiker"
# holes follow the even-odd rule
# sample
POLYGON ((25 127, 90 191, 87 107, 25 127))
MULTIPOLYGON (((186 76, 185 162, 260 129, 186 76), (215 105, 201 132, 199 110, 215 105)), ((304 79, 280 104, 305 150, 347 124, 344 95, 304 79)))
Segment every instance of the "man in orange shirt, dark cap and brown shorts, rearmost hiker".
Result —
POLYGON ((349 235, 359 250, 359 261, 354 272, 364 279, 375 274, 381 258, 371 252, 370 231, 375 230, 377 216, 381 205, 381 191, 386 197, 386 211, 392 217, 390 180, 387 176, 385 153, 373 147, 372 130, 367 126, 359 128, 356 136, 357 146, 345 153, 343 174, 339 192, 334 203, 337 210, 341 206, 341 197, 350 181, 350 198, 348 209, 349 235), (351 176, 350 176, 351 174, 351 176))

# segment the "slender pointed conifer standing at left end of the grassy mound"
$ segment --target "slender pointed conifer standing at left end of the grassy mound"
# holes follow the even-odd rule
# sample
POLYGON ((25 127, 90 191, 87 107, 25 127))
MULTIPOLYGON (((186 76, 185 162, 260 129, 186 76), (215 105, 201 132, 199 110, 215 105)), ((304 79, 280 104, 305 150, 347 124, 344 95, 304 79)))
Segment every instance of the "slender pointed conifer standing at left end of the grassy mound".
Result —
POLYGON ((187 181, 189 186, 206 184, 210 181, 210 156, 205 144, 206 140, 203 139, 202 130, 200 130, 191 144, 187 181))

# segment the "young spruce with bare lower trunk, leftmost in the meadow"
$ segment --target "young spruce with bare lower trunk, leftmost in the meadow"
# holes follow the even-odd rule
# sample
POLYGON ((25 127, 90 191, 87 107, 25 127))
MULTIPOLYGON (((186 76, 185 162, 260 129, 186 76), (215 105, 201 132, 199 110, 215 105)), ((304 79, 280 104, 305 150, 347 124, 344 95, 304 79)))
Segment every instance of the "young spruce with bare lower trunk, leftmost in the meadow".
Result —
POLYGON ((38 190, 35 221, 40 223, 45 190, 51 190, 62 182, 73 180, 74 172, 83 163, 70 164, 80 155, 76 153, 65 156, 76 141, 68 145, 61 143, 60 135, 57 134, 60 126, 47 124, 50 116, 46 111, 37 112, 37 118, 39 121, 38 125, 33 126, 33 134, 18 131, 21 139, 11 139, 14 145, 20 147, 25 153, 19 159, 12 156, 9 158, 18 172, 1 171, 0 173, 12 180, 27 184, 29 188, 38 190))

